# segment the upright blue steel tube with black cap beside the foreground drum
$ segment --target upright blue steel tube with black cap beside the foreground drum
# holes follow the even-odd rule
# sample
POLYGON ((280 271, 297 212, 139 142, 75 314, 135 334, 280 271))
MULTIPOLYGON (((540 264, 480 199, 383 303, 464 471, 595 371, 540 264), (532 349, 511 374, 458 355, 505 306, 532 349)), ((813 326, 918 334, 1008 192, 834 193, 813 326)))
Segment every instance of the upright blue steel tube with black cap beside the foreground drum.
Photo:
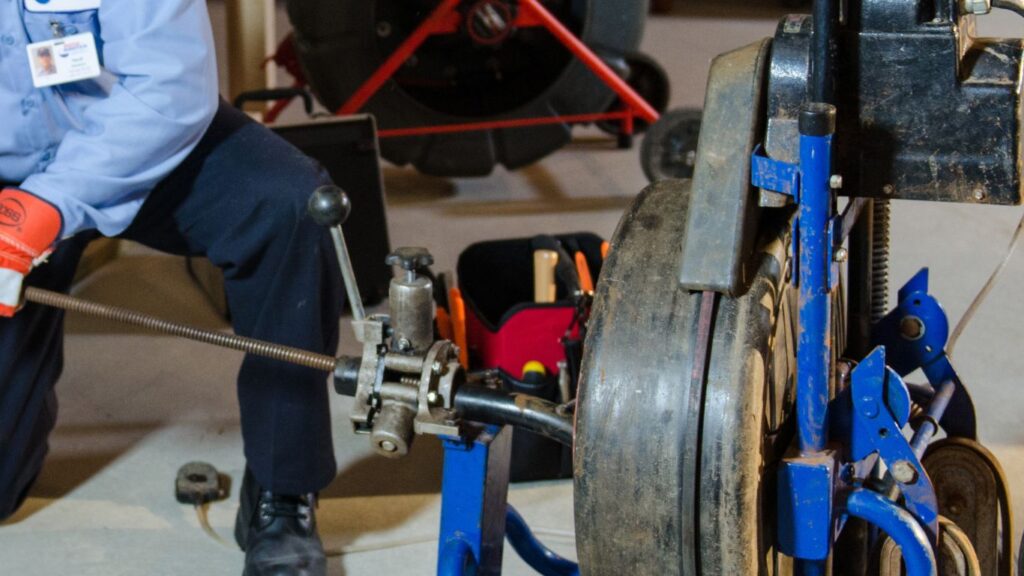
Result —
MULTIPOLYGON (((803 457, 820 454, 828 441, 826 426, 831 379, 831 237, 828 230, 833 215, 828 182, 835 132, 835 107, 811 104, 801 111, 797 422, 803 457)), ((831 486, 821 486, 821 490, 830 491, 831 486)), ((830 494, 801 496, 830 499, 830 494)), ((797 570, 807 576, 824 574, 826 560, 798 560, 797 570)))

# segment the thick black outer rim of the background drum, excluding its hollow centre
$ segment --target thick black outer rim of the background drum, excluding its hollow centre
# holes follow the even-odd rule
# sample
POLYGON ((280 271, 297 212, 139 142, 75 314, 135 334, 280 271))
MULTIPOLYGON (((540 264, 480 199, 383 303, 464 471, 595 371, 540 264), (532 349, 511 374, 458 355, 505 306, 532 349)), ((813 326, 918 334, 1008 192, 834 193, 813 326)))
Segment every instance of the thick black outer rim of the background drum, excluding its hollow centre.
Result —
MULTIPOLYGON (((337 110, 369 78, 387 54, 378 46, 375 10, 379 0, 290 0, 296 47, 306 78, 317 98, 337 110)), ((599 53, 636 50, 646 18, 647 0, 572 0, 580 14, 581 39, 599 53)), ((424 14, 425 15, 425 14, 424 14)), ((559 46, 559 49, 561 47, 559 46)), ((481 98, 488 94, 480 94, 481 98)), ((411 96, 394 81, 386 83, 365 111, 380 128, 431 126, 467 121, 538 118, 594 113, 613 98, 578 59, 571 58, 539 96, 487 118, 438 112, 411 96)), ((570 127, 554 124, 530 128, 385 138, 381 155, 398 164, 441 176, 488 174, 497 164, 518 168, 569 141, 570 127)))

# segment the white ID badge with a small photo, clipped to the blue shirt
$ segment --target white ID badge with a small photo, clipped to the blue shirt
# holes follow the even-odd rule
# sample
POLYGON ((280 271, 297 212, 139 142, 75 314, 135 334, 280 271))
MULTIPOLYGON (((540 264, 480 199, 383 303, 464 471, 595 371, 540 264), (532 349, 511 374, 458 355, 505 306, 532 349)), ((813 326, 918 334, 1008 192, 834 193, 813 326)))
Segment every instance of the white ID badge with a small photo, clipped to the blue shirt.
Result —
POLYGON ((32 83, 37 88, 96 78, 102 73, 92 34, 76 34, 29 44, 32 83))

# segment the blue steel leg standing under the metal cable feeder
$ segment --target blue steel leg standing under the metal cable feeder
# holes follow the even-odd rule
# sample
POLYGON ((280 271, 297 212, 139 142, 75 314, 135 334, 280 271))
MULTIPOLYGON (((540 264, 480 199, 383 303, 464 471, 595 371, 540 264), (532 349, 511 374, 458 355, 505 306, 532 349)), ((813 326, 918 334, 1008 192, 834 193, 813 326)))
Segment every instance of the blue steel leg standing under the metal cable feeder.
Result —
POLYGON ((502 571, 512 429, 487 426, 473 440, 444 438, 437 573, 502 571))

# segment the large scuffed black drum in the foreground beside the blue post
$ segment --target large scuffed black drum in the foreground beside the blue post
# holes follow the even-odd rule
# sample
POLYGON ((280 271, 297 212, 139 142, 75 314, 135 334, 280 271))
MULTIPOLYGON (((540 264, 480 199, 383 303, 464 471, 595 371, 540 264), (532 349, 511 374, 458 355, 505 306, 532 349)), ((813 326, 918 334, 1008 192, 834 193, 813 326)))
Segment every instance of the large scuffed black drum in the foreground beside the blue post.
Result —
POLYGON ((774 464, 793 439, 790 214, 762 221, 746 293, 714 296, 701 389, 691 371, 709 296, 678 280, 689 192, 689 180, 664 180, 641 194, 597 287, 574 451, 588 576, 792 571, 772 549, 774 464))

